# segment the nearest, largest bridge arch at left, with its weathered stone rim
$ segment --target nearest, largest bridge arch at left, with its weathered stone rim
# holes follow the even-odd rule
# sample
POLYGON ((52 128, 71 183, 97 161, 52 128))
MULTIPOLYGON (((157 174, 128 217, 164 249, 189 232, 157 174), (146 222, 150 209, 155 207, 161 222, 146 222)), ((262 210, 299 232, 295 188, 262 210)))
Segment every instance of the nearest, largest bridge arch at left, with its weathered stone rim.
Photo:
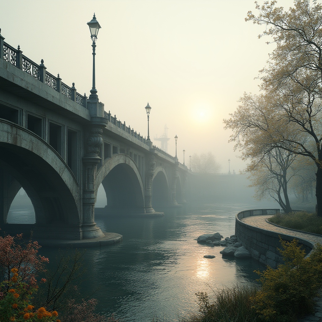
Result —
MULTIPOLYGON (((0 168, 10 173, 28 194, 37 224, 81 223, 80 205, 76 202, 80 199, 78 183, 47 142, 25 128, 1 120, 0 149, 0 168)), ((1 188, 0 193, 4 195, 1 188)), ((5 223, 6 218, 7 212, 0 223, 5 223)))

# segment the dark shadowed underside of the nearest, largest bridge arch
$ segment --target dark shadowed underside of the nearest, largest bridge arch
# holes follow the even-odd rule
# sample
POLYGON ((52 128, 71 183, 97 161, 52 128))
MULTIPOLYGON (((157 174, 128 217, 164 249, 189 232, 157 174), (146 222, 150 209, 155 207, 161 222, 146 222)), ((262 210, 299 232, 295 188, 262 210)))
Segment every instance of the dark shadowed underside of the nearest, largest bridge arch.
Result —
POLYGON ((45 160, 49 158, 55 163, 51 156, 53 151, 42 157, 5 142, 0 142, 0 149, 0 199, 3 202, 0 228, 8 233, 33 230, 36 238, 81 239, 78 207, 64 181, 63 170, 57 172, 45 160), (6 223, 10 205, 20 187, 33 204, 36 219, 33 225, 6 223))

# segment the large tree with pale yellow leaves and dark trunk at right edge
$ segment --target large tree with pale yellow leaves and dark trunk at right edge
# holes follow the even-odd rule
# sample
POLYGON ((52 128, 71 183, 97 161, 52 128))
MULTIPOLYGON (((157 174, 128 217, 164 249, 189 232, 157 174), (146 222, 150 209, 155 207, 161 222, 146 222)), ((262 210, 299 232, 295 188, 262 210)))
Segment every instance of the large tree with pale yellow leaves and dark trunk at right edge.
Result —
POLYGON ((266 25, 259 37, 272 36, 276 48, 261 71, 262 94, 244 94, 225 128, 253 165, 273 148, 311 158, 322 216, 322 5, 295 0, 284 11, 276 4, 256 2, 259 14, 247 14, 246 21, 266 25))

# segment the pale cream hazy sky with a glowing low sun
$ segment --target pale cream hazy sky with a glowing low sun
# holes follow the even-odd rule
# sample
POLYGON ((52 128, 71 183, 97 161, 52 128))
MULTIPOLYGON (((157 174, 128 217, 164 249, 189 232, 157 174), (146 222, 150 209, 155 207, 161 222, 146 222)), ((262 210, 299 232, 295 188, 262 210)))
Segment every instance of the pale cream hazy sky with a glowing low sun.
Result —
MULTIPOLYGON (((259 1, 261 4, 262 1, 259 1)), ((280 0, 288 9, 293 1, 280 0)), ((230 132, 223 130, 243 92, 258 92, 258 71, 274 45, 258 39, 265 28, 244 18, 254 0, 1 1, 5 42, 20 45, 36 63, 81 94, 92 87, 87 22, 101 25, 96 42, 96 89, 105 110, 150 137, 170 137, 168 152, 189 166, 189 155, 211 151, 222 171, 239 171, 230 132)))

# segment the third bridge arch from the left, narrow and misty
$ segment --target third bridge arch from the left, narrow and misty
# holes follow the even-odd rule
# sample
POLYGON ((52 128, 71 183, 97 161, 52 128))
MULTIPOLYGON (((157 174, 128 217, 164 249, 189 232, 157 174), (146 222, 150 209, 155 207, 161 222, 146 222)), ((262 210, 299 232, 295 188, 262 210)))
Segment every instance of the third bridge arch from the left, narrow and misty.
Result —
POLYGON ((152 178, 152 206, 169 205, 169 178, 166 169, 158 166, 152 178))

